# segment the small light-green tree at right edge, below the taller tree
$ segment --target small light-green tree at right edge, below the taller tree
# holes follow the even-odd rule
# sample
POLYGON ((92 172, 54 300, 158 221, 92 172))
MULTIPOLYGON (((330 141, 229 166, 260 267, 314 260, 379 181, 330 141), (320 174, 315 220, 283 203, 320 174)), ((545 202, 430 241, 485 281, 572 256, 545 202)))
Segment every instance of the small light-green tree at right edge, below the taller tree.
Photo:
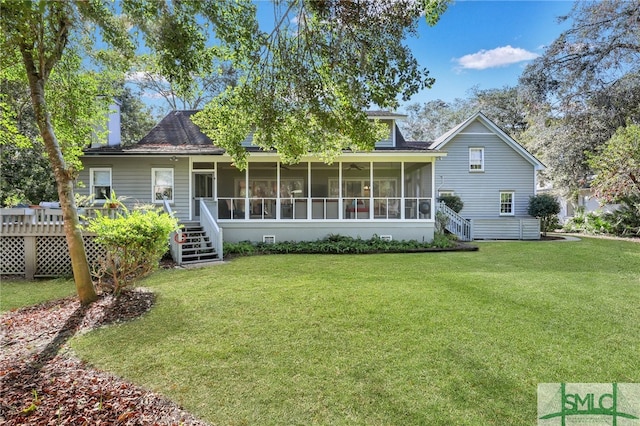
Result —
POLYGON ((596 195, 609 203, 640 200, 640 126, 619 128, 589 165, 595 172, 591 183, 596 195))

